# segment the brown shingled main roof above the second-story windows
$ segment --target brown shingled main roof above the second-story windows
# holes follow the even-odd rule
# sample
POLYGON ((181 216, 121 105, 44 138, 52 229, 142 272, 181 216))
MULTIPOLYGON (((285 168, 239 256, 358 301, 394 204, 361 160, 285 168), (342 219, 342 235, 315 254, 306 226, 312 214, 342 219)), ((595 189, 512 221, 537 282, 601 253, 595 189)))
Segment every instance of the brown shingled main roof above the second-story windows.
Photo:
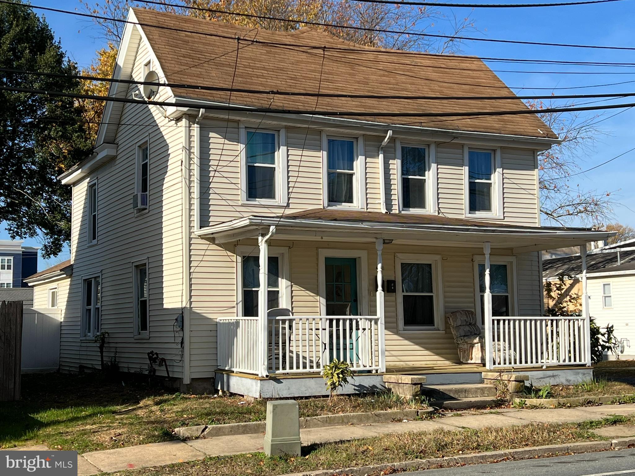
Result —
MULTIPOLYGON (((169 83, 205 84, 244 89, 427 96, 513 95, 512 91, 474 56, 399 55, 381 53, 349 43, 314 28, 272 32, 213 22, 201 18, 135 8, 138 22, 169 83), (154 28, 162 25, 208 34, 154 28), (236 41, 235 37, 241 37, 236 41), (248 39, 290 44, 249 43, 248 39), (236 46, 239 44, 236 62, 236 46), (330 46, 354 51, 309 49, 330 46), (236 75, 234 77, 234 67, 236 75)), ((227 102, 229 93, 174 89, 182 98, 227 102)), ((348 110, 366 112, 465 112, 526 109, 521 100, 377 100, 316 98, 232 93, 234 104, 272 109, 348 110), (273 102, 271 102, 273 98, 273 102), (271 106, 270 106, 271 104, 271 106)), ((384 124, 508 135, 555 138, 533 114, 481 117, 354 117, 384 124), (540 129, 540 130, 538 130, 540 129)))

